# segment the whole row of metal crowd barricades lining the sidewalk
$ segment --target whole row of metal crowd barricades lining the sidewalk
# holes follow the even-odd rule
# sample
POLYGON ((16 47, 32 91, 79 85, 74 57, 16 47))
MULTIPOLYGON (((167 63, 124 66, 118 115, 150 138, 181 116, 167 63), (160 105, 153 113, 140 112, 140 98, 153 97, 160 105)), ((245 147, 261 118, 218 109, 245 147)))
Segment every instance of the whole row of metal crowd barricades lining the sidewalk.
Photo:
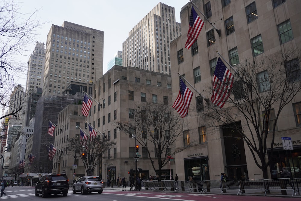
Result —
POLYGON ((237 195, 248 191, 270 193, 270 191, 281 191, 286 194, 292 190, 292 196, 300 195, 301 178, 279 178, 279 179, 253 179, 253 180, 204 180, 204 181, 144 181, 144 190, 151 191, 182 191, 186 193, 200 192, 209 193, 211 190, 220 189, 221 193, 226 190, 237 190, 237 195))

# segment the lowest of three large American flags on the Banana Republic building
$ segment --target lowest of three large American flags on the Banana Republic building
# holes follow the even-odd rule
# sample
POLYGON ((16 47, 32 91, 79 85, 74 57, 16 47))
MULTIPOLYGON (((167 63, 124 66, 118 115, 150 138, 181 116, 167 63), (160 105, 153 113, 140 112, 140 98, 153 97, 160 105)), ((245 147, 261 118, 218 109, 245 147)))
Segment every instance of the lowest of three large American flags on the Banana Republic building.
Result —
POLYGON ((193 92, 190 89, 188 89, 188 87, 180 78, 180 91, 172 107, 175 108, 175 110, 180 114, 182 118, 185 117, 188 113, 188 108, 190 105, 192 95, 193 92))

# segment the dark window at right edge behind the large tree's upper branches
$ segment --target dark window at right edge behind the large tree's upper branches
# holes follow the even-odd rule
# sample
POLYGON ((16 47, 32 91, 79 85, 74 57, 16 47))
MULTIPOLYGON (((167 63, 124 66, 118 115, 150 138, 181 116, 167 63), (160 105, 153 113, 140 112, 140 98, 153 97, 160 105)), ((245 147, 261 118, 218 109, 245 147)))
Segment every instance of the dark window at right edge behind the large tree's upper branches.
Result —
POLYGON ((287 80, 292 83, 301 80, 300 63, 298 58, 284 63, 287 80))

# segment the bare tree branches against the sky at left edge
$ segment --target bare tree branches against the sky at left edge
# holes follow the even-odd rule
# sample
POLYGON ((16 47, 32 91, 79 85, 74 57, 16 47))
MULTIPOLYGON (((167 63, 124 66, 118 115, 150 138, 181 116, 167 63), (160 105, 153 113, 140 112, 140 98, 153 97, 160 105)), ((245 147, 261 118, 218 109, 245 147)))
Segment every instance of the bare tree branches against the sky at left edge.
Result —
MULTIPOLYGON (((20 61, 20 55, 25 55, 29 46, 34 44, 37 36, 36 29, 42 24, 36 18, 39 10, 32 13, 21 13, 19 3, 14 0, 4 0, 0 3, 0 105, 4 108, 8 106, 8 100, 15 84, 15 79, 19 73, 27 70, 20 61)), ((10 115, 15 115, 22 109, 15 108, 10 115)))

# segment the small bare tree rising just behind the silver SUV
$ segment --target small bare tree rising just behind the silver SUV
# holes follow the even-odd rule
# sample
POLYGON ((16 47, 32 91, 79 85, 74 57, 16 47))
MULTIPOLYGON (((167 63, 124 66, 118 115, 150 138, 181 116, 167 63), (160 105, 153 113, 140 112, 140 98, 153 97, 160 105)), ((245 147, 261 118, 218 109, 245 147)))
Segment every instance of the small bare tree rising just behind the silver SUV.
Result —
POLYGON ((68 154, 78 154, 85 166, 87 175, 92 175, 95 167, 102 161, 102 155, 116 143, 96 136, 93 140, 68 139, 68 154), (83 155, 84 153, 84 155, 83 155))

